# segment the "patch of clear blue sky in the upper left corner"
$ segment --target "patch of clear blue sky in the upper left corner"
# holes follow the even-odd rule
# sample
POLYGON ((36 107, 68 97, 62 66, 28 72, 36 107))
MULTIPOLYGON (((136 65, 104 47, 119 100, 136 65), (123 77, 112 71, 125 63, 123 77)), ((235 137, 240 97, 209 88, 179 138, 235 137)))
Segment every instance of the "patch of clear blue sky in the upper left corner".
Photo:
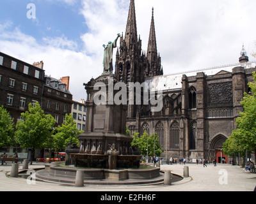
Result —
POLYGON ((2 1, 0 7, 1 22, 10 21, 13 27, 19 27, 24 34, 32 35, 39 43, 42 39, 65 36, 68 40, 77 42, 77 48, 81 49, 80 36, 88 31, 84 23, 84 17, 80 12, 80 1, 74 3, 61 3, 60 1, 27 1, 8 0, 2 1), (26 13, 29 3, 36 6, 36 19, 29 20, 26 13))

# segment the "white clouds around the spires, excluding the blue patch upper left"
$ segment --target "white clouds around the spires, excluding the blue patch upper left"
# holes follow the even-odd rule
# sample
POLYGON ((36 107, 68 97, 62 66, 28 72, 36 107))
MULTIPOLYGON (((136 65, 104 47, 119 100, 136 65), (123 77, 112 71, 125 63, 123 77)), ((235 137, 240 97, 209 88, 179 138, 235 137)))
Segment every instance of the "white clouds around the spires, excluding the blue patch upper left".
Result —
MULTIPOLYGON (((77 42, 65 36, 36 40, 19 28, 10 31, 12 22, 0 22, 1 52, 31 63, 44 61, 45 73, 54 78, 70 76, 75 100, 85 98, 83 83, 102 73, 102 45, 113 41, 117 33, 125 33, 129 10, 129 0, 64 3, 71 8, 79 2, 81 10, 77 12, 84 17, 81 26, 86 23, 89 29, 81 34, 80 51, 77 42)), ((236 63, 243 43, 248 54, 255 47, 256 1, 135 0, 135 6, 143 50, 147 50, 154 7, 157 48, 164 74, 236 63)))

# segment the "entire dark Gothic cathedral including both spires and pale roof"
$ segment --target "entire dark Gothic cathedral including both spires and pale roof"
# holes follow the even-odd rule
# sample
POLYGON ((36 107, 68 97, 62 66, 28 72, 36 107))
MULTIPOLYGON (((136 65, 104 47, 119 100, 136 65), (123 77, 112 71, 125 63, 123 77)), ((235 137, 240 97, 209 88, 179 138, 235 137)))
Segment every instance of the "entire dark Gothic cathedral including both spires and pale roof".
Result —
MULTIPOLYGON (((218 68, 163 76, 157 54, 154 10, 147 55, 137 40, 134 1, 131 0, 125 38, 116 54, 115 75, 121 82, 146 82, 150 92, 163 92, 163 109, 150 112, 150 105, 129 105, 127 128, 132 133, 157 133, 164 149, 161 155, 187 159, 223 157, 221 148, 243 111, 244 92, 250 92, 256 62, 249 62, 244 47, 239 63, 218 68)), ((143 93, 141 93, 143 94, 143 93)))

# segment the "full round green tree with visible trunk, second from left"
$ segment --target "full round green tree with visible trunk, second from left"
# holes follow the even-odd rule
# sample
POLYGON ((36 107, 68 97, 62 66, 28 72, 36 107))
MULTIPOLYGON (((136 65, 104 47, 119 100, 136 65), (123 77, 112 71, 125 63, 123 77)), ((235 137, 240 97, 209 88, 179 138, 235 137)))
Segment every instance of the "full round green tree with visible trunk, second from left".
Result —
POLYGON ((44 149, 49 143, 52 129, 56 120, 52 115, 45 115, 38 102, 33 106, 28 105, 29 110, 21 113, 22 120, 16 125, 15 140, 22 148, 31 148, 31 164, 35 156, 35 149, 44 149))

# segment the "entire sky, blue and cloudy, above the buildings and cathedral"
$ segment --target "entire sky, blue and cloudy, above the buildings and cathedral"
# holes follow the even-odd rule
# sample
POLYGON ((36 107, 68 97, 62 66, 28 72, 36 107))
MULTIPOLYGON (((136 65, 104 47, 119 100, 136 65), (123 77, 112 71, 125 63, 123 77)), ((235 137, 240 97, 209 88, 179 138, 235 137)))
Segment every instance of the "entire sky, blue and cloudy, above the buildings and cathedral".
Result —
MULTIPOLYGON (((1 0, 0 52, 30 64, 43 61, 45 75, 70 77, 74 101, 86 99, 83 83, 101 75, 102 45, 125 33, 129 3, 1 0)), ((243 45, 256 60, 255 0, 135 0, 135 7, 143 50, 154 7, 164 75, 238 63, 243 45)))

